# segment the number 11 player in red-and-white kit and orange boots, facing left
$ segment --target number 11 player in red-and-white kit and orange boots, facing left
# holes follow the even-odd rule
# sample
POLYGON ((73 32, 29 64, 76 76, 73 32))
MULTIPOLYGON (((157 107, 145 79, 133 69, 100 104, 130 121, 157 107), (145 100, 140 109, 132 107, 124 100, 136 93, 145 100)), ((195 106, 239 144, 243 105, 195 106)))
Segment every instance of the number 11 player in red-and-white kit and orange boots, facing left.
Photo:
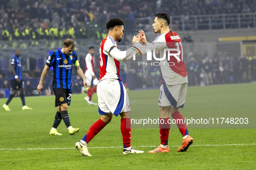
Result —
MULTIPOLYGON (((188 128, 185 124, 185 119, 179 112, 179 108, 183 108, 188 87, 188 76, 183 61, 182 42, 177 33, 169 29, 170 17, 167 13, 156 14, 152 27, 155 33, 160 35, 152 43, 146 41, 146 36, 143 30, 139 31, 140 43, 134 43, 136 47, 146 54, 146 49, 159 52, 159 58, 165 59, 160 61, 160 69, 162 75, 162 85, 160 86, 159 94, 159 131, 161 145, 149 153, 170 152, 168 148, 168 138, 170 130, 169 114, 175 120, 178 129, 183 136, 183 142, 177 152, 187 151, 188 147, 193 143, 193 139, 188 134, 188 128), (179 55, 168 56, 168 49, 171 54, 179 55), (177 57, 177 58, 176 58, 177 57), (168 60, 169 59, 169 60, 168 60), (169 64, 167 64, 169 63, 169 64)), ((134 36, 135 37, 135 36, 134 36)))

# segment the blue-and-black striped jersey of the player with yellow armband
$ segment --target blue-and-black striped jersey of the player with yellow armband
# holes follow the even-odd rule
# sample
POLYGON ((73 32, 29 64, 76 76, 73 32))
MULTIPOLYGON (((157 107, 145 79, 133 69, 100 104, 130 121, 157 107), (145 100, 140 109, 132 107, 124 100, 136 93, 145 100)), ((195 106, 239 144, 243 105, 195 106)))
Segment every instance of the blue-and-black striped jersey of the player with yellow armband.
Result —
POLYGON ((52 52, 46 60, 46 65, 53 67, 52 88, 72 89, 71 73, 72 65, 79 66, 78 55, 75 51, 69 56, 61 50, 52 52))

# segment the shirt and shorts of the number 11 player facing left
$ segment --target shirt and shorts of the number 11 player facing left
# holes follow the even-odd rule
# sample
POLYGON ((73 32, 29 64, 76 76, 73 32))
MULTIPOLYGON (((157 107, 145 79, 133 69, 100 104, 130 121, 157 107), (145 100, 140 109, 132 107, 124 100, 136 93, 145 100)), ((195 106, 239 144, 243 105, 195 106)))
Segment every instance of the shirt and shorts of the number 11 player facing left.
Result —
MULTIPOLYGON (((159 35, 152 43, 146 43, 145 46, 140 43, 135 43, 142 54, 146 54, 146 48, 153 51, 158 51, 160 60, 160 68, 162 75, 162 85, 160 87, 159 105, 173 106, 183 108, 187 93, 188 76, 183 60, 183 48, 181 38, 177 33, 168 31, 159 35), (145 48, 146 47, 146 48, 145 48), (168 49, 179 49, 180 54, 177 60, 171 56, 168 60, 168 49), (168 64, 170 63, 170 64, 168 64)), ((177 54, 177 51, 169 50, 171 54, 177 54)))

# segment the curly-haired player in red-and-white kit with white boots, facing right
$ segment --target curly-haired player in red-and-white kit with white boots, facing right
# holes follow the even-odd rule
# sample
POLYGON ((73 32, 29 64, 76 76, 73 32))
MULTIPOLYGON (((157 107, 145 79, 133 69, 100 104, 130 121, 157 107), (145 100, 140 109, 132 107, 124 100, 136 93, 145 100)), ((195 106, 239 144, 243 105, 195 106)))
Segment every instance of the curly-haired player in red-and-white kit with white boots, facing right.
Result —
POLYGON ((97 85, 98 113, 100 114, 100 119, 91 125, 84 138, 75 144, 75 148, 83 156, 91 156, 87 150, 88 142, 110 123, 113 115, 120 115, 120 129, 123 135, 123 154, 143 153, 144 151, 133 149, 130 145, 130 103, 119 72, 119 61, 131 60, 133 49, 129 48, 126 51, 121 51, 117 48, 116 41, 120 42, 123 38, 124 27, 122 19, 112 18, 107 22, 106 27, 108 34, 100 44, 100 78, 97 85))

